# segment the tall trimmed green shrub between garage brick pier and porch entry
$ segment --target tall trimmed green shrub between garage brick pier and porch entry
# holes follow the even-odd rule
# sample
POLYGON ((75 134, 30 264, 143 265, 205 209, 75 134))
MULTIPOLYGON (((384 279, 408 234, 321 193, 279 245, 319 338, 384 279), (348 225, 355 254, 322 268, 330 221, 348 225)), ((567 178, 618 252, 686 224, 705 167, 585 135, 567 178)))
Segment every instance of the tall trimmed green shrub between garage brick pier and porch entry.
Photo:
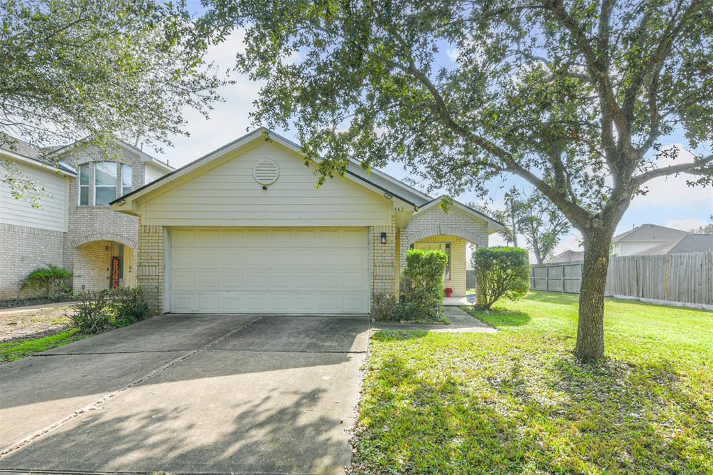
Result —
POLYGON ((404 303, 413 304, 409 318, 400 320, 440 320, 443 315, 443 272, 448 256, 439 250, 411 249, 406 252, 404 303), (413 310, 413 312, 411 312, 413 310))

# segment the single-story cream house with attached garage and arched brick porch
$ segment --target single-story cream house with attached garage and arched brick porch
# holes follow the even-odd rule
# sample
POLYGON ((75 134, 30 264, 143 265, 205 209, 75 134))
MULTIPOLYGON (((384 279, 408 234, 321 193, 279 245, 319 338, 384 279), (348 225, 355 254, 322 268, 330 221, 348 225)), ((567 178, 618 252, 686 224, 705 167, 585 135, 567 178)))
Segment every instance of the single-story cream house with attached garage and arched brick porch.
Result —
POLYGON ((450 256, 466 292, 466 244, 501 223, 356 162, 315 186, 299 145, 258 129, 111 203, 139 218, 137 281, 157 312, 369 313, 399 292, 411 247, 450 256))

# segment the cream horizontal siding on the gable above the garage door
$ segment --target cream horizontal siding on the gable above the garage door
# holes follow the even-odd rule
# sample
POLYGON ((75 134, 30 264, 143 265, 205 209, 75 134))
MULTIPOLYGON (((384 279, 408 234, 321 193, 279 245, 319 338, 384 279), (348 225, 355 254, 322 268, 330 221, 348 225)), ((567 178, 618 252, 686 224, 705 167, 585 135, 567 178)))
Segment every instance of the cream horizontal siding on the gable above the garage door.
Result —
POLYGON ((315 188, 317 177, 297 154, 262 143, 180 183, 143 205, 143 223, 165 226, 372 226, 391 223, 393 205, 344 178, 315 188), (273 160, 279 178, 267 190, 255 181, 259 160, 273 160))

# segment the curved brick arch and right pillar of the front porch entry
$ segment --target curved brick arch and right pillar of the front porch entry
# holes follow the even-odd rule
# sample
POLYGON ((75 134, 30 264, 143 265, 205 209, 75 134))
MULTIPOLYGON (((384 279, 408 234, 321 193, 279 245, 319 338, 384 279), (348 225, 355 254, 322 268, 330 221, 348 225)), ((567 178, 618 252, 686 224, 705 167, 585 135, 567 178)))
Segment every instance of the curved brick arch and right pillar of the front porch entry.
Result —
POLYGON ((453 289, 453 295, 463 297, 468 288, 467 262, 468 247, 477 247, 482 236, 468 229, 451 225, 438 225, 404 235, 401 240, 402 267, 405 265, 406 252, 415 247, 426 250, 442 250, 448 255, 448 267, 444 285, 453 289))

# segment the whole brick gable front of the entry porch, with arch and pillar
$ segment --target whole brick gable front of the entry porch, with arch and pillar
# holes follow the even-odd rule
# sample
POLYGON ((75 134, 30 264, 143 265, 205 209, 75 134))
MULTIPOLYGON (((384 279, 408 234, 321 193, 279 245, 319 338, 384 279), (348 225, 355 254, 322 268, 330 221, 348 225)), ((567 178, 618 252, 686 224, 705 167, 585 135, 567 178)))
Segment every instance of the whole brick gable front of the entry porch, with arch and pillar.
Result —
POLYGON ((406 266, 406 252, 414 242, 452 242, 452 279, 451 285, 448 285, 448 287, 453 289, 455 295, 465 295, 466 247, 468 242, 472 242, 478 247, 488 246, 488 223, 473 219, 456 208, 451 208, 446 213, 440 207, 434 206, 434 208, 414 214, 411 221, 409 221, 409 225, 400 230, 399 237, 399 267, 401 272, 406 266))

